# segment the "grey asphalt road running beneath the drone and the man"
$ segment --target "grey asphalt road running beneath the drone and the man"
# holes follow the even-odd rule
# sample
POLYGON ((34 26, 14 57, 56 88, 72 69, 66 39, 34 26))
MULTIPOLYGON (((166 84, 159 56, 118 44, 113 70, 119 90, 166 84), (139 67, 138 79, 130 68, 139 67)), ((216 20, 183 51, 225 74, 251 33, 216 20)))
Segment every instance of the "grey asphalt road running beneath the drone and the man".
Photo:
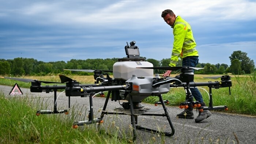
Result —
MULTIPOLYGON (((9 95, 12 87, 1 86, 0 91, 3 91, 6 96, 9 95)), ((30 95, 37 98, 45 98, 48 101, 53 101, 53 92, 46 94, 31 93, 29 89, 21 88, 23 95, 30 95)), ((59 92, 58 94, 59 95, 59 92)), ((105 98, 94 97, 93 109, 96 117, 100 117, 98 110, 102 109, 105 103, 105 98)), ((68 109, 68 97, 65 93, 62 93, 57 99, 57 105, 61 105, 68 109)), ((89 98, 71 97, 71 105, 85 106, 89 109, 89 98)), ((142 104, 144 107, 159 108, 162 106, 154 106, 151 104, 142 104)), ((223 104, 224 105, 224 104, 223 104)), ((109 100, 107 109, 113 110, 120 107, 118 102, 109 100)), ((194 120, 179 119, 176 115, 182 112, 182 109, 178 107, 167 107, 172 123, 175 128, 175 134, 172 137, 158 136, 150 132, 137 130, 136 143, 149 143, 149 140, 155 140, 155 143, 161 143, 162 140, 165 143, 239 143, 242 144, 256 144, 256 117, 227 114, 212 111, 212 116, 203 120, 202 122, 195 123, 194 120)), ((157 111, 153 113, 163 114, 164 111, 157 111)), ((194 110, 195 117, 198 115, 194 110)), ((115 121, 115 125, 120 129, 129 133, 129 125, 131 124, 131 118, 129 115, 105 115, 103 118, 104 124, 108 125, 115 121)), ((138 125, 152 129, 165 129, 167 132, 171 132, 170 125, 166 117, 156 116, 138 116, 138 125)))

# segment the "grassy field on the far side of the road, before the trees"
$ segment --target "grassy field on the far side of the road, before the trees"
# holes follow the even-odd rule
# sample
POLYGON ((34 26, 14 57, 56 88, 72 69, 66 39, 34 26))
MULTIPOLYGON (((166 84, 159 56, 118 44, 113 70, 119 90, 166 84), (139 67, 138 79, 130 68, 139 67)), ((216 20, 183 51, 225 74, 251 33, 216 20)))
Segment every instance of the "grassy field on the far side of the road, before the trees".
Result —
MULTIPOLYGON (((212 89, 213 106, 227 105, 229 110, 227 113, 248 114, 256 115, 256 74, 251 75, 231 75, 232 87, 231 95, 229 95, 228 88, 212 89)), ((204 79, 203 77, 216 76, 216 75, 195 75, 195 82, 208 82, 208 81, 220 81, 220 79, 204 79)), ((82 84, 94 83, 93 76, 72 76, 71 79, 77 80, 82 84)), ((25 79, 37 79, 51 82, 60 82, 59 76, 24 76, 20 78, 25 79)), ((9 79, 0 79, 0 84, 14 86, 16 82, 9 79)), ((17 82, 20 87, 29 88, 30 83, 17 82)), ((42 85, 45 85, 42 83, 42 85)), ((206 91, 208 87, 202 87, 206 91)), ((204 102, 208 105, 209 96, 208 93, 199 88, 199 91, 203 95, 204 102)), ((163 94, 163 99, 169 100, 170 106, 178 106, 181 102, 185 101, 184 88, 171 88, 170 92, 163 94)), ((143 100, 147 103, 155 103, 159 101, 158 97, 150 96, 143 100)))

